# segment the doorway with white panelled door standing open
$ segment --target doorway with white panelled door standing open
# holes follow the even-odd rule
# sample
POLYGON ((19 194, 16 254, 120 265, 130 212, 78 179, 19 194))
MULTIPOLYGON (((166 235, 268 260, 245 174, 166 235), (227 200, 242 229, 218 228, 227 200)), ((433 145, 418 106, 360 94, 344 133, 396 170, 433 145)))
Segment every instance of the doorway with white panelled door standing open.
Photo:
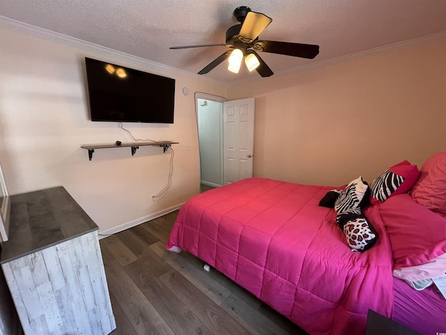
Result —
POLYGON ((219 187, 252 177, 254 98, 197 94, 196 109, 201 184, 219 187))

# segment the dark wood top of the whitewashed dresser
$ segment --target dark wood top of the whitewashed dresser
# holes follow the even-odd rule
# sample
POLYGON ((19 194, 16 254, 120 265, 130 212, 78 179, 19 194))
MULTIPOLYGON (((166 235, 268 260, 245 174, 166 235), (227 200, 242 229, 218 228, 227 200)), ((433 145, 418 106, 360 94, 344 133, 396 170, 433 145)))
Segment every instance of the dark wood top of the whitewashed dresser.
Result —
POLYGON ((98 230, 63 186, 12 195, 1 264, 98 230))

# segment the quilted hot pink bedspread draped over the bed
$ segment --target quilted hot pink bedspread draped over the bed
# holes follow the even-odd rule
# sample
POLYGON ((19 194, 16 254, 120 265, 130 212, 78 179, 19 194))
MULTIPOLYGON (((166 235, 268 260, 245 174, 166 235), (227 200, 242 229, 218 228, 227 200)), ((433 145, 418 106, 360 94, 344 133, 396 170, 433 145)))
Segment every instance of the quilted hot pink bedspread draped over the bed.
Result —
POLYGON ((378 208, 364 214, 376 244, 352 252, 318 207, 331 187, 244 179, 192 198, 167 248, 177 246, 243 286, 312 335, 365 334, 369 308, 392 317, 392 251, 378 208))

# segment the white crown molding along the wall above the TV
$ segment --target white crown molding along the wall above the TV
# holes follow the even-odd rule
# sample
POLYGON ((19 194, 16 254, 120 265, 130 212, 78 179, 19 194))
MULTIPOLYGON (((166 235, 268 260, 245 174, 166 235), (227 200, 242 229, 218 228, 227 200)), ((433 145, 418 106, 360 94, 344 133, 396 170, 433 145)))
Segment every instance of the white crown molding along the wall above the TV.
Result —
POLYGON ((15 31, 20 31, 25 34, 30 34, 33 36, 46 38, 47 40, 52 40, 57 43, 63 43, 66 45, 70 45, 72 47, 79 47, 82 50, 102 54, 105 57, 114 57, 117 59, 122 59, 124 61, 132 61, 133 63, 139 64, 141 66, 148 66, 154 70, 159 70, 164 73, 169 73, 171 75, 180 75, 180 76, 188 77, 188 78, 195 79, 195 80, 201 80, 204 82, 218 84, 218 85, 224 86, 224 87, 227 86, 227 83, 225 83, 225 82, 220 82, 218 80, 215 80, 215 79, 212 79, 209 77, 203 77, 201 75, 197 75, 195 73, 190 73, 185 70, 181 70, 179 68, 174 68, 172 66, 160 64, 155 61, 149 61, 148 59, 137 57, 132 54, 127 54, 125 52, 114 50, 109 47, 104 47, 102 45, 90 43, 90 42, 87 42, 86 40, 80 40, 79 38, 75 38, 72 36, 59 34, 59 33, 56 33, 54 31, 51 31, 48 29, 36 27, 31 24, 26 24, 24 22, 13 20, 13 19, 10 19, 9 17, 4 17, 1 15, 0 15, 0 26, 6 27, 9 29, 13 29, 15 31))

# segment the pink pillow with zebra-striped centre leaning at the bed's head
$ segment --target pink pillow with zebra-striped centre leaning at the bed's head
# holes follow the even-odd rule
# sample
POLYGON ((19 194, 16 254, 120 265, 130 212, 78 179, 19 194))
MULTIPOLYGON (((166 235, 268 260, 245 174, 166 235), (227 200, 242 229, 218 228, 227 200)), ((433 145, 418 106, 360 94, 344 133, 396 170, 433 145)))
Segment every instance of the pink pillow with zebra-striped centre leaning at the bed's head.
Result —
POLYGON ((408 193, 418 179, 417 165, 402 161, 392 165, 370 184, 370 202, 378 204, 393 195, 408 193))

